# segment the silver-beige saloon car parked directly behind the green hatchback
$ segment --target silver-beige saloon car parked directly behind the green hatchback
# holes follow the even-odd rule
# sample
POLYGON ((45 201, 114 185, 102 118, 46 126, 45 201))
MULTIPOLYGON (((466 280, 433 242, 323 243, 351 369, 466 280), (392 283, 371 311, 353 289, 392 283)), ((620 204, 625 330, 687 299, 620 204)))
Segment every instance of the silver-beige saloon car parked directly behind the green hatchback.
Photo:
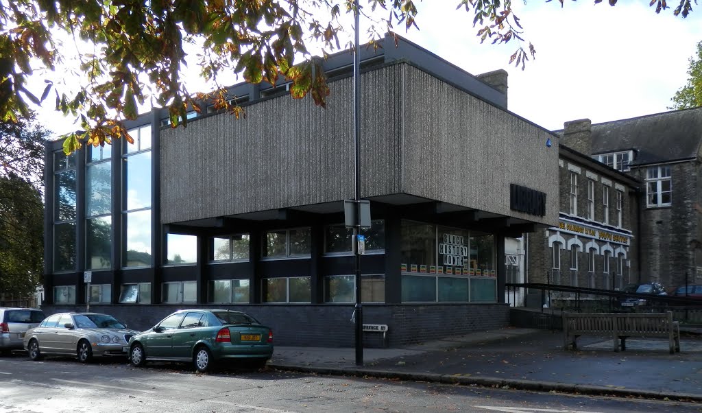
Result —
POLYGON ((90 362, 93 356, 128 355, 129 339, 137 333, 112 315, 58 313, 29 329, 24 346, 32 360, 51 354, 75 355, 81 362, 90 362))

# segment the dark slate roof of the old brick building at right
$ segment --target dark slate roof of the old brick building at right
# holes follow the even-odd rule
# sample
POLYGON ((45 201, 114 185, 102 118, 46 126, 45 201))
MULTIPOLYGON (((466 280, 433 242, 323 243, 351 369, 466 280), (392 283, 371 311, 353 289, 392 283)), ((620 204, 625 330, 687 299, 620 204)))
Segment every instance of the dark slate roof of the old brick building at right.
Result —
POLYGON ((702 107, 592 125, 592 155, 633 149, 632 164, 695 158, 701 143, 702 107))

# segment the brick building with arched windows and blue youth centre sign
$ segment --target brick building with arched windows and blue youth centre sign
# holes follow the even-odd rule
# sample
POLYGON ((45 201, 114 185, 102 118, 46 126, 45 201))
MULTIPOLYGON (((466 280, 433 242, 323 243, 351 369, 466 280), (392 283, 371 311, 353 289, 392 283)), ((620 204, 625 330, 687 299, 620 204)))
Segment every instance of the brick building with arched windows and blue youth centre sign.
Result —
MULTIPOLYGON (((558 166, 558 225, 527 236, 528 282, 596 289, 637 282, 638 181, 563 143, 558 166)), ((527 306, 540 305, 540 291, 529 294, 527 306)))

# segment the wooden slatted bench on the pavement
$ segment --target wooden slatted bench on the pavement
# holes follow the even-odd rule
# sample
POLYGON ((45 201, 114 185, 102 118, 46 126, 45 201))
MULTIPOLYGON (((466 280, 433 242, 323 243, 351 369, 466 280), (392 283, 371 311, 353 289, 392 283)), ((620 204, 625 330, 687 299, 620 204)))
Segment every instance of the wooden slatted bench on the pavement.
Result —
POLYGON ((614 351, 626 350, 628 337, 666 337, 670 354, 680 352, 680 325, 673 313, 563 313, 564 350, 577 349, 578 336, 611 336, 614 351))

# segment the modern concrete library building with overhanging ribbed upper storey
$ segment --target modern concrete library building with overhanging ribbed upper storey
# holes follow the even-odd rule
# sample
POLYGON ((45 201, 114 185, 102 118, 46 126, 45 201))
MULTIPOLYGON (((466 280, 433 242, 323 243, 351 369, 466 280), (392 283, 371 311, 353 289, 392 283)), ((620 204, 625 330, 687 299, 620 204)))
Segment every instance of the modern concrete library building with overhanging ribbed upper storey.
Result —
MULTIPOLYGON (((506 72, 381 46, 360 56, 364 322, 387 325, 390 346, 505 327, 504 240, 557 225, 557 138, 507 110, 506 72)), ((208 111, 171 129, 153 110, 126 125, 133 145, 51 143, 46 313, 90 299, 146 329, 178 308, 232 308, 277 343, 352 345, 352 55, 324 70, 326 109, 284 81, 238 84, 246 119, 208 111)))

